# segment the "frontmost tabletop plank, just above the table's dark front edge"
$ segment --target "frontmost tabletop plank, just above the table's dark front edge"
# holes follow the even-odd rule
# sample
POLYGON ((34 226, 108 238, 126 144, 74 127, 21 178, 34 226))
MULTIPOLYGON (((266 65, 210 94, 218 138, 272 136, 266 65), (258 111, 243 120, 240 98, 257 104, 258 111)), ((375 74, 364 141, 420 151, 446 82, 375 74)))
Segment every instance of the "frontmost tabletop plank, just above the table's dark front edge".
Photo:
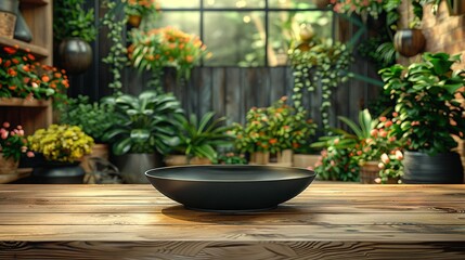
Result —
POLYGON ((254 225, 157 224, 127 225, 0 225, 0 240, 358 240, 358 242, 463 242, 463 225, 254 225))

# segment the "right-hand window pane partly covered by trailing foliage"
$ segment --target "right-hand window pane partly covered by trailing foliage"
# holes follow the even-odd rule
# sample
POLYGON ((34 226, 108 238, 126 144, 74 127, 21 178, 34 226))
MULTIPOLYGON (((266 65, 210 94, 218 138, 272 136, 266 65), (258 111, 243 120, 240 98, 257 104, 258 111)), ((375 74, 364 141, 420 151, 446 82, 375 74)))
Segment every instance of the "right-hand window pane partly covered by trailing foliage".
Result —
POLYGON ((279 66, 287 63, 287 50, 292 41, 299 40, 300 25, 311 25, 315 37, 331 38, 332 15, 332 12, 321 11, 270 12, 268 65, 279 66))

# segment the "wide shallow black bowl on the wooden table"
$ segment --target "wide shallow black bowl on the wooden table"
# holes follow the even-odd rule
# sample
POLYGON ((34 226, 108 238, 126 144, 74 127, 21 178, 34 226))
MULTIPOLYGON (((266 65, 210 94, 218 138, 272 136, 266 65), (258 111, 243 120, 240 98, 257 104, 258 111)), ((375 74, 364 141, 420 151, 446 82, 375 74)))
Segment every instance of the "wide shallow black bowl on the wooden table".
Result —
POLYGON ((271 166, 180 166, 145 172, 152 185, 185 208, 257 211, 275 208, 301 193, 315 178, 311 170, 271 166))

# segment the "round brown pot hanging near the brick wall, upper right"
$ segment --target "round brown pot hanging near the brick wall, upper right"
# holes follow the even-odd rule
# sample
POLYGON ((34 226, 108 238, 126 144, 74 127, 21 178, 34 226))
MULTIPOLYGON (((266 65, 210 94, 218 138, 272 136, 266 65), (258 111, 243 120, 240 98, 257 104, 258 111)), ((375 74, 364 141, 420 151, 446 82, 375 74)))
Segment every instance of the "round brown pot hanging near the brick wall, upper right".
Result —
POLYGON ((396 51, 406 57, 423 52, 425 44, 425 36, 421 29, 400 29, 393 36, 396 51))

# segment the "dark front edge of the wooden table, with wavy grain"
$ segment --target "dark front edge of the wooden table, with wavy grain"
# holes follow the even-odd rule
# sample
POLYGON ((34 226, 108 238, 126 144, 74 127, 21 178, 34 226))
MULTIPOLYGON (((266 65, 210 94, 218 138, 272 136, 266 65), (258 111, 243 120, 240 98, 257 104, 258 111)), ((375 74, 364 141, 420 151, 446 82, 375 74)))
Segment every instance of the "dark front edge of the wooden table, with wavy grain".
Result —
MULTIPOLYGON (((2 250, 3 249, 3 250, 2 250)), ((0 258, 18 259, 460 259, 465 246, 454 243, 379 242, 11 242, 0 258), (102 256, 105 251, 105 256, 102 256), (413 252, 413 253, 412 253, 413 252), (439 258, 438 258, 439 257, 439 258)))

